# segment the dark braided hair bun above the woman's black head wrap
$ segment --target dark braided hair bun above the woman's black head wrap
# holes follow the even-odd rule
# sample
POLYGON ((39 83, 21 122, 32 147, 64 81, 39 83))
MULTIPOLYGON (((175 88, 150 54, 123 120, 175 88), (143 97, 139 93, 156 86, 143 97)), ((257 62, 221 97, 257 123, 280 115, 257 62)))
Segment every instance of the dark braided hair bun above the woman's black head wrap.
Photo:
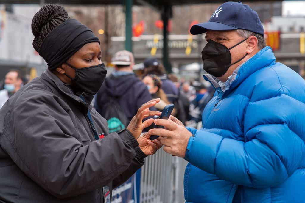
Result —
POLYGON ((65 8, 57 4, 44 5, 32 19, 33 47, 38 52, 42 41, 57 26, 71 19, 65 8))

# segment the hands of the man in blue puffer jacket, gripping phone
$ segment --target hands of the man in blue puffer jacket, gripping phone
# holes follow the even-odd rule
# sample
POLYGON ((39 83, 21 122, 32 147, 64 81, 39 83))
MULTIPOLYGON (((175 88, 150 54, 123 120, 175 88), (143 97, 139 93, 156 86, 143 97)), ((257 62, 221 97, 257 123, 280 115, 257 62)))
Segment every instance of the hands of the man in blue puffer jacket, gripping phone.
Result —
POLYGON ((163 128, 154 128, 148 131, 149 135, 160 136, 160 142, 163 150, 174 156, 185 157, 188 140, 192 133, 176 117, 170 116, 169 120, 155 119, 156 125, 164 126, 163 128))

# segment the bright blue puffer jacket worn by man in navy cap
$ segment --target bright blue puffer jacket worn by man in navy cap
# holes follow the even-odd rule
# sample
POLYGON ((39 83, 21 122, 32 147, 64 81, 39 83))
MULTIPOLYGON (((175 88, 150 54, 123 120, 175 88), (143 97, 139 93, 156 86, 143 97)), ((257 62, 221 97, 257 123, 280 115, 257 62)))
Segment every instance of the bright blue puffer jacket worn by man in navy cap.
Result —
POLYGON ((304 80, 265 47, 216 90, 188 129, 186 202, 305 202, 304 80))

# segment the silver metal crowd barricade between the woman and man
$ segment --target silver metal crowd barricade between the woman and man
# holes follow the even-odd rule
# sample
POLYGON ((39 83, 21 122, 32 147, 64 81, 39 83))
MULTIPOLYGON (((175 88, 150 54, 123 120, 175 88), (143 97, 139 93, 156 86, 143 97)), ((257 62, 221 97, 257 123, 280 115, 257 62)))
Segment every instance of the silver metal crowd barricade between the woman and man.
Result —
MULTIPOLYGON (((202 124, 195 123, 197 129, 202 124)), ((159 149, 145 158, 141 169, 140 203, 185 203, 184 171, 188 164, 183 158, 173 157, 159 149)))

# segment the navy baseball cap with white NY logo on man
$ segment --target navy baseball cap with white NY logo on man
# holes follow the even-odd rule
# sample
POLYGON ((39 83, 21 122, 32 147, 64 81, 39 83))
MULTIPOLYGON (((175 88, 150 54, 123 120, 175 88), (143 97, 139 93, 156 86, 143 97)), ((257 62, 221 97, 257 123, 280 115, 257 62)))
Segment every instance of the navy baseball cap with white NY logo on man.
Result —
POLYGON ((244 29, 264 36, 264 28, 257 12, 242 2, 226 2, 219 6, 206 23, 191 27, 191 34, 206 33, 207 30, 244 29))

